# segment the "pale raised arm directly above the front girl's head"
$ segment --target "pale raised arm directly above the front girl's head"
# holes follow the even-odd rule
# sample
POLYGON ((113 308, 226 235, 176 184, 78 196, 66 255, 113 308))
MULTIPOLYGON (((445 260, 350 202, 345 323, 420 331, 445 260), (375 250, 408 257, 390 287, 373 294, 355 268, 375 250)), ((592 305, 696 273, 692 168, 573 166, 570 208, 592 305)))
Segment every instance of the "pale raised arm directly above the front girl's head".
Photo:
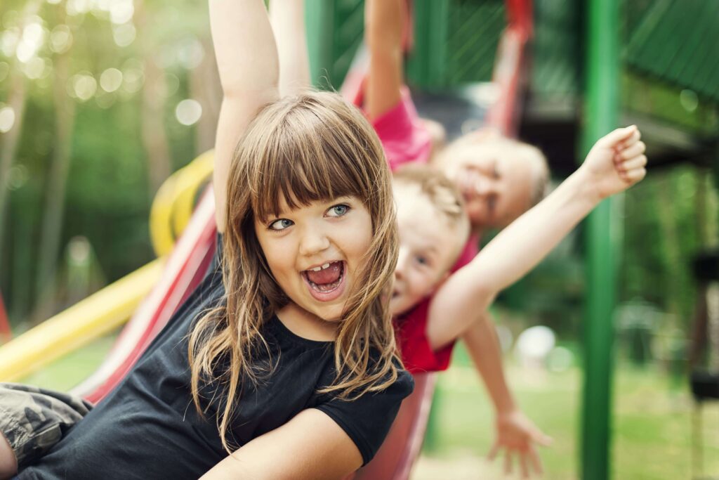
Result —
POLYGON ((280 96, 296 95, 312 85, 304 0, 271 0, 270 20, 280 54, 280 96))

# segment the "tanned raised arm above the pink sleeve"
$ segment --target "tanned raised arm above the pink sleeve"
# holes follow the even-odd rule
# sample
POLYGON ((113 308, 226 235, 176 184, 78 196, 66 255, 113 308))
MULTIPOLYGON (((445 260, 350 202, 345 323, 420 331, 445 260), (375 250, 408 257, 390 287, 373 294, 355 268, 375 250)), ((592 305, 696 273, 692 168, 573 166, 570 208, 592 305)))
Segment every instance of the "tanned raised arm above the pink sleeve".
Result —
POLYGON ((374 120, 400 103, 402 87, 403 0, 365 2, 365 42, 370 74, 365 83, 365 111, 374 120))

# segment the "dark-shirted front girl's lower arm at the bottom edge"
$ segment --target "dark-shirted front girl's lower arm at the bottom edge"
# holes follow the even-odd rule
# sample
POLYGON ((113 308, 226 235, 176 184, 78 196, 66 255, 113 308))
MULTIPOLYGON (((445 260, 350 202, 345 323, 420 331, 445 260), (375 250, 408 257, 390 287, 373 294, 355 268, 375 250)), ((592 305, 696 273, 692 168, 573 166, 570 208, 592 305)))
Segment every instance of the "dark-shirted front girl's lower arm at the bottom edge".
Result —
POLYGON ((362 455, 344 430, 324 412, 306 409, 232 453, 202 480, 336 480, 360 466, 362 455))

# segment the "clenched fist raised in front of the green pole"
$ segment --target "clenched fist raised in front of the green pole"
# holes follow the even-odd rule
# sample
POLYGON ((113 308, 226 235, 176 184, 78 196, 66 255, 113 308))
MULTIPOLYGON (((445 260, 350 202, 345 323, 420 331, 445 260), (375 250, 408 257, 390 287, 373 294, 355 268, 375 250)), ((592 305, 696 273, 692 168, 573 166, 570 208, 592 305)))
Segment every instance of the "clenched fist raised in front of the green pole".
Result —
POLYGON ((597 140, 581 170, 599 199, 628 189, 646 175, 646 145, 636 125, 618 128, 597 140))

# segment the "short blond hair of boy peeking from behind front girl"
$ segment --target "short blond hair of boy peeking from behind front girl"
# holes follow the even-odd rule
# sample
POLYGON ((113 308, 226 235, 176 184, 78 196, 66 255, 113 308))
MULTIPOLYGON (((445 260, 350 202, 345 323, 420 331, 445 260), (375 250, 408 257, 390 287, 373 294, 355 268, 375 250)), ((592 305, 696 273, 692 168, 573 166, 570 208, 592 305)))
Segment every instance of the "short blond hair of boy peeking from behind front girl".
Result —
POLYGON ((432 206, 457 232, 457 251, 452 263, 462 253, 464 243, 470 235, 470 219, 464 212, 462 194, 444 173, 423 165, 408 165, 398 168, 393 174, 395 183, 416 186, 432 206))

